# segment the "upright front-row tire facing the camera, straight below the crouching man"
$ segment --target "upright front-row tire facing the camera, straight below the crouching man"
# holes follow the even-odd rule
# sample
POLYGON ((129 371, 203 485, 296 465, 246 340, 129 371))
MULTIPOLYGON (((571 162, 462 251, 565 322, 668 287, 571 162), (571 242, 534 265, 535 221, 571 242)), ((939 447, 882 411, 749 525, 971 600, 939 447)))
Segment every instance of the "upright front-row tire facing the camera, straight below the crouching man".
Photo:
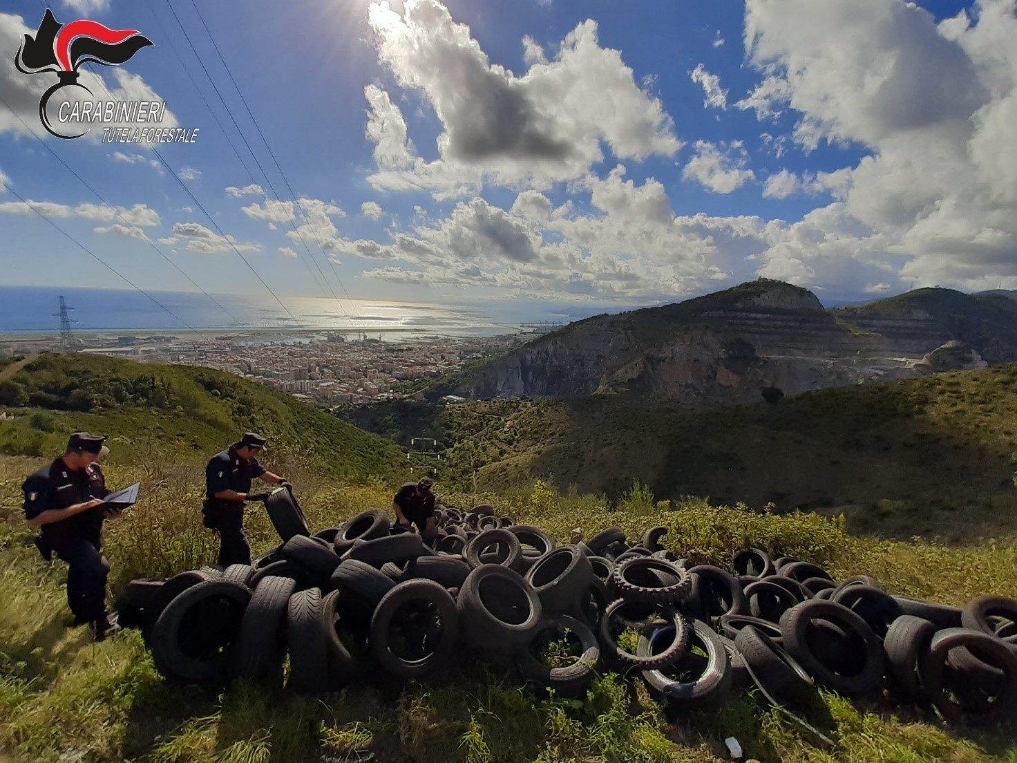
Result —
POLYGON ((443 670, 451 663, 459 642, 459 611, 456 600, 440 584, 433 580, 408 580, 400 583, 384 595, 371 618, 368 643, 371 653, 382 668, 400 679, 419 679, 443 670), (403 607, 411 602, 426 605, 428 617, 436 615, 440 622, 440 635, 431 644, 431 634, 426 635, 430 649, 418 659, 406 659, 393 650, 393 621, 403 607))

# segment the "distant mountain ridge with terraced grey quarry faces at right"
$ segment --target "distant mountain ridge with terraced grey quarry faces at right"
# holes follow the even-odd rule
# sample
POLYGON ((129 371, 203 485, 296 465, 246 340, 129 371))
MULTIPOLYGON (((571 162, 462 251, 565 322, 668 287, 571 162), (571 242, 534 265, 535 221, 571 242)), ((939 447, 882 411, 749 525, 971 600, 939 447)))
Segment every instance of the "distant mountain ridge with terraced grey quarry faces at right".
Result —
POLYGON ((572 324, 442 379, 429 398, 621 394, 752 401, 770 386, 797 394, 918 376, 929 372, 922 357, 952 340, 990 363, 1017 360, 1017 302, 919 289, 827 310, 805 289, 760 279, 572 324))

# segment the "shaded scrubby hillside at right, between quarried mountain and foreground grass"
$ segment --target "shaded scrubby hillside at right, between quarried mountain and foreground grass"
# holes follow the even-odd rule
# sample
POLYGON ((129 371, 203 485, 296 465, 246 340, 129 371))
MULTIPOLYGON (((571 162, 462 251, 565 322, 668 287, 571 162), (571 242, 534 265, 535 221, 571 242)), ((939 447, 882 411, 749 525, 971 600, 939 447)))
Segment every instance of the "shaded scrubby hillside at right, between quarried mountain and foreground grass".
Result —
POLYGON ((503 489, 545 477, 614 498, 648 484, 756 509, 844 513, 856 532, 960 541, 1017 534, 1017 365, 822 390, 776 407, 594 396, 359 409, 439 438, 445 479, 503 489), (428 415, 430 418, 428 418, 428 415))

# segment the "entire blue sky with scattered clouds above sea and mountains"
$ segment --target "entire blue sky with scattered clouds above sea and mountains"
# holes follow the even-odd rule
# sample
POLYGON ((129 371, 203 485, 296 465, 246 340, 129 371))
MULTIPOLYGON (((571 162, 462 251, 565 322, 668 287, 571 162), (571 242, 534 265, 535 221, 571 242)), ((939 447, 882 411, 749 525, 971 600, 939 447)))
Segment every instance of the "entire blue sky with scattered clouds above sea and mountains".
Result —
POLYGON ((5 0, 4 285, 591 307, 760 277, 828 305, 1017 289, 1017 0, 53 2, 153 42, 82 84, 199 132, 49 135, 56 75, 13 63, 46 6, 5 0))

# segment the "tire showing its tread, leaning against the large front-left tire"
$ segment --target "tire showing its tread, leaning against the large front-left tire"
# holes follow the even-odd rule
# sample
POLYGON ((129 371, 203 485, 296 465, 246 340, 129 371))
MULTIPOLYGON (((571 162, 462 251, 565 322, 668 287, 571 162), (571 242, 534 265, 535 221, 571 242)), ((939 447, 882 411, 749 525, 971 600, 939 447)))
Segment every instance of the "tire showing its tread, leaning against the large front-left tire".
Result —
POLYGON ((240 623, 230 655, 230 672, 251 681, 282 684, 286 659, 286 611, 296 588, 292 578, 263 578, 240 623))

